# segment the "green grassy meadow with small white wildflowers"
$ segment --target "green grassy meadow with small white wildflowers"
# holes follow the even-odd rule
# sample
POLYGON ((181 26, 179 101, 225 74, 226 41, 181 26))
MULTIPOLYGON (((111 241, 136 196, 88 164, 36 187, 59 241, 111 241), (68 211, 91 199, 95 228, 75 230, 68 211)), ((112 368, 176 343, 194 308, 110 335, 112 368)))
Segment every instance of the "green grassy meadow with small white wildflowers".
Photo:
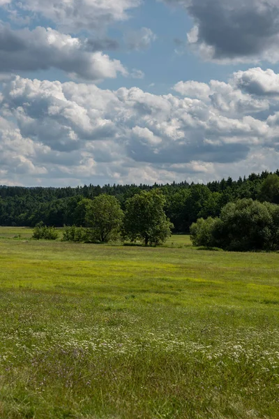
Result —
POLYGON ((1 419, 279 418, 279 254, 14 233, 0 228, 1 419))

